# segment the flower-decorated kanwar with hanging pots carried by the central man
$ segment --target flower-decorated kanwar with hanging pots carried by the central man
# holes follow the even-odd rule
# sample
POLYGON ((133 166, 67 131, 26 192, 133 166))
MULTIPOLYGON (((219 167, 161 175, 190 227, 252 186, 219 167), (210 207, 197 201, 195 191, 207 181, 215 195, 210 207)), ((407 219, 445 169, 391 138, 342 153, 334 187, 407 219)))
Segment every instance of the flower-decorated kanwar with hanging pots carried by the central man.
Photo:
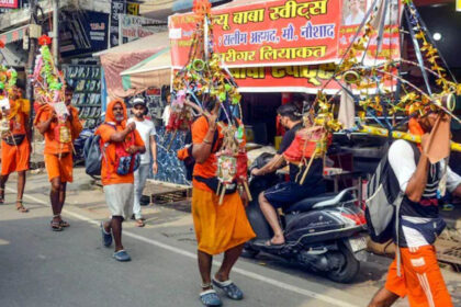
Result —
MULTIPOLYGON (((234 181, 245 187, 250 197, 247 183, 247 155, 244 146, 241 121, 233 116, 234 107, 239 107, 240 94, 222 57, 213 50, 213 24, 209 0, 194 0, 193 12, 198 24, 192 37, 188 64, 176 73, 172 82, 171 115, 167 130, 189 129, 192 118, 207 113, 209 103, 218 111, 217 125, 223 144, 216 152, 220 182, 215 193, 220 204, 234 181), (221 112, 221 113, 220 113, 221 112)), ((241 116, 241 112, 239 112, 241 116)))

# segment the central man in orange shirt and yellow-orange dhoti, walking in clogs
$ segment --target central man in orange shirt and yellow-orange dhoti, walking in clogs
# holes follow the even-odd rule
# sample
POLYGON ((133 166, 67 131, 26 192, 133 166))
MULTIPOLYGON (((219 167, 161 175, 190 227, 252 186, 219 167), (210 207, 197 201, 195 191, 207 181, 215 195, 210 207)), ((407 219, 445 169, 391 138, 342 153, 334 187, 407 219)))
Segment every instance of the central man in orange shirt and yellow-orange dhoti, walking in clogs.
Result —
MULTIPOLYGON (((224 107, 224 106, 221 106, 224 107)), ((192 124, 193 170, 192 217, 198 241, 199 270, 202 277, 200 298, 205 306, 221 306, 213 289, 221 288, 231 299, 243 299, 244 294, 229 278, 231 270, 241 254, 244 243, 255 237, 245 206, 248 195, 244 189, 226 193, 222 204, 216 194, 216 152, 223 145, 222 125, 231 125, 217 102, 205 104, 204 116, 192 124), (209 113, 210 112, 210 113, 209 113), (216 122, 220 122, 220 125, 216 122), (221 125, 222 124, 222 125, 221 125), (211 277, 213 255, 224 252, 224 260, 214 277, 211 277)), ((231 114, 229 111, 226 112, 231 114)), ((236 121, 236 120, 235 120, 236 121)), ((245 139, 243 139, 245 141, 245 139)))

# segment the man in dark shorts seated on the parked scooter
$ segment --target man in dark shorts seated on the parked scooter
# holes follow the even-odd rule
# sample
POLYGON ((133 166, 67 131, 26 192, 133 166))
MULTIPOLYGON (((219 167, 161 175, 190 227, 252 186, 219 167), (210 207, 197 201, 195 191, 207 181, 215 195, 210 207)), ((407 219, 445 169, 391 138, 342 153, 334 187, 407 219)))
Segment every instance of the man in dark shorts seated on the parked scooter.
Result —
MULTIPOLYGON (((303 127, 302 114, 299 109, 291 103, 281 105, 277 113, 280 115, 281 124, 288 129, 283 136, 277 155, 261 169, 254 169, 251 174, 263 175, 279 169, 283 162, 283 152, 290 147, 294 140, 296 132, 303 127)), ((308 170, 307 177, 302 185, 296 183, 296 177, 304 172, 304 168, 290 163, 290 181, 282 182, 259 194, 259 206, 262 214, 272 227, 273 237, 267 242, 268 246, 280 246, 285 242, 283 230, 280 226, 277 215, 277 208, 288 208, 294 203, 325 192, 323 182, 323 162, 322 159, 314 159, 308 170)))

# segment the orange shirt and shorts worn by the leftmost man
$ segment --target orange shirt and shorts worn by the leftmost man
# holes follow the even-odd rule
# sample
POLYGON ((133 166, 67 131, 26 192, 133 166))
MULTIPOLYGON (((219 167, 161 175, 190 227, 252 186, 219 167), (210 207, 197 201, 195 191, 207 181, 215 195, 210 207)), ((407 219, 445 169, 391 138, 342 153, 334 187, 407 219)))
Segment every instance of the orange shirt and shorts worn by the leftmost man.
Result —
POLYGON ((26 137, 27 133, 25 125, 29 121, 29 101, 15 100, 10 101, 11 115, 10 121, 11 135, 25 135, 24 140, 20 145, 8 145, 4 140, 1 141, 1 174, 7 175, 12 172, 20 172, 29 170, 29 162, 31 158, 31 145, 26 137))

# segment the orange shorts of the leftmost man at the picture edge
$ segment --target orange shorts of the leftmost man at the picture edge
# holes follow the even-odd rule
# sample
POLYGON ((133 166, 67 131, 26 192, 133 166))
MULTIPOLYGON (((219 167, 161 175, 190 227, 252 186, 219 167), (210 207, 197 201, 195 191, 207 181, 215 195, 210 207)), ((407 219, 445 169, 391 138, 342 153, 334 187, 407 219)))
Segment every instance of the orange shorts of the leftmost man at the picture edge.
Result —
POLYGON ((1 174, 7 175, 12 172, 29 170, 31 158, 31 146, 24 138, 20 146, 10 146, 4 140, 1 141, 1 174))

